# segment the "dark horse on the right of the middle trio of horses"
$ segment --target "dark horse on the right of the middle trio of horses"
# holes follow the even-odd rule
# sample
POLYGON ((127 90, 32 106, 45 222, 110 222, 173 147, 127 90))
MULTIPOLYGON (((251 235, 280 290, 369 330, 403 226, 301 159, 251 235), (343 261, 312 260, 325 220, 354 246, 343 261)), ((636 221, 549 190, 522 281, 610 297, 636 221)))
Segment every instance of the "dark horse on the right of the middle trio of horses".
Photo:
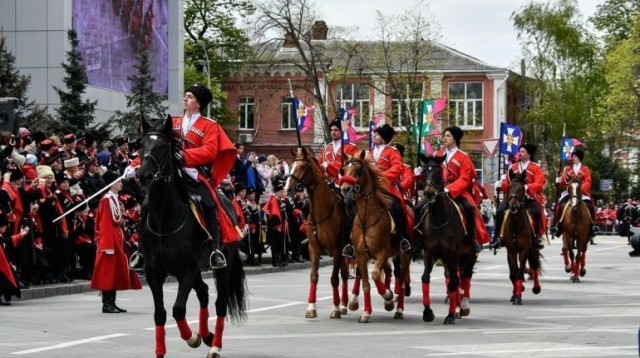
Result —
MULTIPOLYGON (((442 157, 425 157, 420 155, 424 164, 424 196, 425 209, 417 225, 416 235, 422 238, 424 248, 424 272, 422 274, 422 303, 424 311, 422 320, 432 322, 435 319, 431 309, 429 296, 431 271, 437 259, 440 259, 449 273, 447 282, 447 297, 449 312, 444 324, 455 324, 457 310, 460 316, 471 313, 469 308, 469 293, 471 277, 477 255, 471 245, 464 240, 466 235, 463 224, 463 213, 454 201, 444 192, 442 180, 442 157), (460 299, 462 288, 462 299, 460 299)), ((474 223, 471 223, 473 225, 474 223)))

